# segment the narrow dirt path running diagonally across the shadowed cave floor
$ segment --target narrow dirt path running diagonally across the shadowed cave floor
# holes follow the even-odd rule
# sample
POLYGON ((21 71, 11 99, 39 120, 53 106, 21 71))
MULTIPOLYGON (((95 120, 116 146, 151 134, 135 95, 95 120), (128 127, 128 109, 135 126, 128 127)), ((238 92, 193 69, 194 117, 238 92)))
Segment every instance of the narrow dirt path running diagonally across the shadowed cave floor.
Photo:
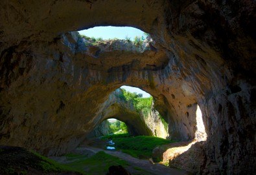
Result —
POLYGON ((185 172, 183 170, 171 169, 169 167, 165 167, 164 165, 161 165, 158 163, 152 164, 152 163, 150 163, 149 160, 139 160, 137 158, 130 156, 129 154, 126 154, 124 152, 120 152, 117 150, 104 150, 104 149, 99 149, 99 148, 90 147, 90 146, 84 146, 83 149, 90 150, 95 153, 97 153, 99 151, 104 151, 107 154, 116 156, 122 160, 127 161, 132 166, 139 167, 140 169, 143 169, 152 174, 157 174, 157 175, 159 175, 159 174, 161 174, 161 175, 172 175, 172 174, 173 175, 185 175, 185 174, 187 174, 187 172, 185 172))

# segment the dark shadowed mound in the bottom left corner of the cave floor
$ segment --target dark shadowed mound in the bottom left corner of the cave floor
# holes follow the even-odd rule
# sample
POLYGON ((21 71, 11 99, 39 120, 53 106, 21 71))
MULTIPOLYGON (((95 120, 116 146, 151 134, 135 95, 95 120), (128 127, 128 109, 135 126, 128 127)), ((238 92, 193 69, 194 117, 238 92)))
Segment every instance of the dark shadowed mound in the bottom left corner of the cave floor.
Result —
POLYGON ((37 170, 42 174, 54 172, 77 172, 72 167, 62 165, 40 154, 19 147, 3 147, 0 156, 0 174, 31 174, 37 170))

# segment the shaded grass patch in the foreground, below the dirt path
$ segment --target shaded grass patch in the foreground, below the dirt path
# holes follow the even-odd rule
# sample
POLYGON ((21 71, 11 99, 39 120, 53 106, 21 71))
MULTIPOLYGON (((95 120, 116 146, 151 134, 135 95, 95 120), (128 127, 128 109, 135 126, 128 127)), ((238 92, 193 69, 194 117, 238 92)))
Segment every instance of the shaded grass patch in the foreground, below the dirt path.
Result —
POLYGON ((85 170, 86 174, 106 174, 108 168, 112 165, 122 165, 123 167, 129 164, 115 156, 106 154, 103 151, 97 152, 97 154, 90 158, 82 158, 80 155, 69 157, 69 160, 73 160, 71 163, 67 163, 73 169, 85 170))

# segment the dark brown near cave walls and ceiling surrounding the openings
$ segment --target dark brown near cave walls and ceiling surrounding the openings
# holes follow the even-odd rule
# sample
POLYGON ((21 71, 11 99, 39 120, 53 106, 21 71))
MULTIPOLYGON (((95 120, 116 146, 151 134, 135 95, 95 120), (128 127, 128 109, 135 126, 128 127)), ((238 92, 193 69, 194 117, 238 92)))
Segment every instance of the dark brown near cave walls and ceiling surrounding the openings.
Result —
POLYGON ((72 150, 109 94, 133 85, 154 96, 172 139, 194 138, 200 106, 207 132, 201 174, 255 172, 254 1, 3 0, 0 6, 1 144, 48 155, 72 150), (146 52, 120 52, 131 63, 115 55, 99 65, 104 52, 76 61, 83 51, 67 32, 99 25, 141 28, 161 56, 152 55, 149 66, 146 52))

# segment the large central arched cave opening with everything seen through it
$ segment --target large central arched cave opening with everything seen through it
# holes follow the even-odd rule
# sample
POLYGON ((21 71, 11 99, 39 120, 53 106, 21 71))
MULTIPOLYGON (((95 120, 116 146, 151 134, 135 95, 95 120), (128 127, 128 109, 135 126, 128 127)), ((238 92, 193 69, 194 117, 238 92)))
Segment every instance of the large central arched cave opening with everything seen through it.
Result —
POLYGON ((124 85, 112 92, 104 104, 100 120, 89 136, 129 133, 168 138, 169 123, 154 107, 153 97, 144 90, 124 85))

